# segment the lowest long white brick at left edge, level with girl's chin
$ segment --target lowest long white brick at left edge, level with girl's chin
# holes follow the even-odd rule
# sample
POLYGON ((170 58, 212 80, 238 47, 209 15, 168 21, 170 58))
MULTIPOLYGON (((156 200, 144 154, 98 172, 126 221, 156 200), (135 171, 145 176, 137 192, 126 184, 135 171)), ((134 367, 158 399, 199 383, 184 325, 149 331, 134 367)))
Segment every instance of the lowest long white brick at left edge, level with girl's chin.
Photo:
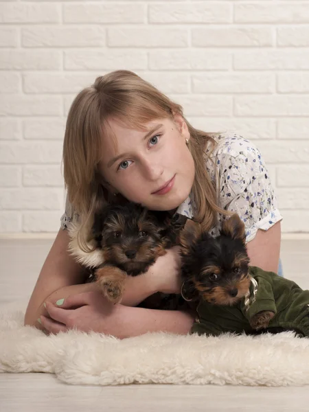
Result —
POLYGON ((62 207, 62 190, 43 190, 27 187, 27 189, 1 189, 0 209, 5 210, 55 210, 62 207))

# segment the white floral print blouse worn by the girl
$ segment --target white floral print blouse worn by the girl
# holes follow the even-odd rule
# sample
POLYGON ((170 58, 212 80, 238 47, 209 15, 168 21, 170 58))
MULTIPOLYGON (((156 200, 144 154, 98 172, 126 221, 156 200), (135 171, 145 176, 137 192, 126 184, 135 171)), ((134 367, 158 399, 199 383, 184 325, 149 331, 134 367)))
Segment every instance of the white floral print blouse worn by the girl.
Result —
MULTIPOLYGON (((255 238, 258 229, 268 230, 282 220, 277 208, 277 200, 264 160, 256 146, 237 134, 216 135, 216 148, 210 157, 206 150, 205 167, 211 179, 216 179, 218 201, 222 209, 235 211, 243 220, 246 229, 246 241, 255 238), (212 163, 209 159, 212 159, 212 163), (218 171, 216 178, 214 164, 218 171)), ((179 205, 174 214, 174 222, 194 217, 194 205, 190 196, 179 205)), ((65 214, 61 217, 62 229, 67 222, 78 218, 67 201, 65 214)), ((222 226, 222 217, 209 232, 218 236, 222 226)))

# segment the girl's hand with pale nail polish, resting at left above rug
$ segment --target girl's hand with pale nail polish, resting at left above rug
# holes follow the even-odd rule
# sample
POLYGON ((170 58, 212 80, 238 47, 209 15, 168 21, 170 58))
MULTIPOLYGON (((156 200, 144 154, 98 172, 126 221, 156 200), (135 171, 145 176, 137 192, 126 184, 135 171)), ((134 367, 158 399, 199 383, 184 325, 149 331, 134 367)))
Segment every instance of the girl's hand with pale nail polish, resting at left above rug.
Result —
MULTIPOLYGON (((58 300, 58 304, 61 300, 58 300)), ((46 301, 46 310, 50 318, 42 315, 41 325, 48 334, 77 329, 117 336, 125 307, 111 304, 99 291, 91 291, 71 295, 60 305, 46 301)))

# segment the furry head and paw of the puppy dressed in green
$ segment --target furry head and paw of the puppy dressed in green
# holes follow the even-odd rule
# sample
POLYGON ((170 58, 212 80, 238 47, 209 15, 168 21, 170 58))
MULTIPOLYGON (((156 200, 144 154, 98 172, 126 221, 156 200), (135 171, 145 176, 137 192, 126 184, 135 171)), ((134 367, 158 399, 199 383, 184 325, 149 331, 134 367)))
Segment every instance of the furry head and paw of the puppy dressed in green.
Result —
MULTIPOLYGON (((216 238, 188 220, 180 242, 182 295, 186 300, 201 300, 222 308, 246 301, 254 279, 249 275, 244 224, 237 214, 223 222, 220 236, 216 238)), ((267 328, 273 317, 273 311, 261 310, 249 319, 249 324, 253 330, 267 328)))

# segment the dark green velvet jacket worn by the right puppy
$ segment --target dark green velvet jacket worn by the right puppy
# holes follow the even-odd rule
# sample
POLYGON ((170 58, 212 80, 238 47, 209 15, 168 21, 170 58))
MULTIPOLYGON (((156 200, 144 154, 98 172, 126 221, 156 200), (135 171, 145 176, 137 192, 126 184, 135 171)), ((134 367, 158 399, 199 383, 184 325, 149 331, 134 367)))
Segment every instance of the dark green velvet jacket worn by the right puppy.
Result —
POLYGON ((269 332, 284 328, 309 336, 309 290, 302 290, 295 282, 256 266, 249 266, 249 275, 249 293, 234 306, 214 305, 201 299, 191 334, 255 334, 249 319, 262 310, 270 310, 275 317, 268 324, 269 332))

